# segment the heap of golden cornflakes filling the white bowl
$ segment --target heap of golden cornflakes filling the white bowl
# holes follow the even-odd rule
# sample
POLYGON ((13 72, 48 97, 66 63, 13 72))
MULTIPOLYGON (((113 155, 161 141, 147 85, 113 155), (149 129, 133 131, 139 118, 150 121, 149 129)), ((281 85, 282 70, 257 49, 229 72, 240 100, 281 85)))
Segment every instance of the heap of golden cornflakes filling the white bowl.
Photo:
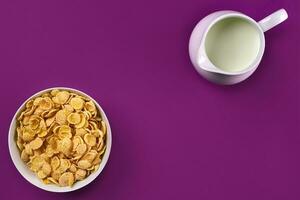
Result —
POLYGON ((92 100, 55 89, 27 101, 17 121, 20 157, 45 184, 72 186, 99 168, 106 123, 92 100))

